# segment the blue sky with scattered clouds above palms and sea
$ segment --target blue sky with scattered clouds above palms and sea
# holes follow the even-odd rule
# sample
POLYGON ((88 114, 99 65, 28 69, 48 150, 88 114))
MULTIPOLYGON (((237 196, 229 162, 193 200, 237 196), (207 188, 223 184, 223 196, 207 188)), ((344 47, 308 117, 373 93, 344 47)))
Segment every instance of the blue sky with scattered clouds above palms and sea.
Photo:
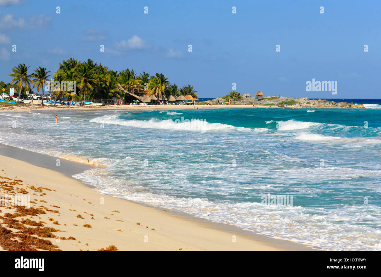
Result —
POLYGON ((290 2, 0 0, 0 81, 19 63, 54 72, 74 57, 163 73, 201 98, 233 82, 252 95, 381 98, 381 2, 290 2), (337 81, 337 95, 306 92, 312 78, 337 81))

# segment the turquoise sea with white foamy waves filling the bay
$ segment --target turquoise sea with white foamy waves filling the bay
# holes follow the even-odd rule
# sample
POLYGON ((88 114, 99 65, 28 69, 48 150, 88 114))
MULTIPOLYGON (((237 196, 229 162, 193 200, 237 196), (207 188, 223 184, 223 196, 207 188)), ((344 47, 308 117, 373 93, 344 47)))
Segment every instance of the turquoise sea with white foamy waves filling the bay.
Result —
POLYGON ((75 176, 101 193, 327 250, 381 249, 376 106, 30 111, 0 124, 2 143, 104 164, 75 176))

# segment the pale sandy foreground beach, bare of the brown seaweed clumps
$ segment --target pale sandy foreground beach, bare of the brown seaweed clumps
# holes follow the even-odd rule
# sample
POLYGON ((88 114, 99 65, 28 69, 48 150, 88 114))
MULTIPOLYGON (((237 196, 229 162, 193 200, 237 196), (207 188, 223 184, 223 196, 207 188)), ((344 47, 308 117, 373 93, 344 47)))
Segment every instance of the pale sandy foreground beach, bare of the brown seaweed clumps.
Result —
MULTIPOLYGON (((0 155, 0 167, 4 170, 0 171, 0 176, 16 177, 23 184, 49 189, 45 192, 46 195, 42 195, 43 199, 36 195, 31 195, 30 198, 46 201, 48 204, 45 206, 50 204, 60 207, 58 216, 48 212, 39 214, 38 217, 45 222, 44 226, 66 232, 54 234, 76 238, 75 241, 61 240, 59 243, 56 238, 50 238, 53 245, 58 245, 61 250, 97 250, 109 245, 115 245, 118 250, 320 250, 314 246, 267 237, 235 225, 212 222, 184 212, 169 209, 164 212, 162 208, 147 203, 104 195, 71 177, 78 171, 95 168, 92 165, 60 158, 61 166, 57 167, 56 157, 3 144, 0 144, 0 155), (104 205, 99 204, 100 198, 104 198, 104 205), (84 218, 77 218, 78 213, 84 218), (95 218, 89 220, 90 215, 95 218), (60 225, 53 225, 48 219, 50 216, 60 225), (61 222, 66 225, 61 225, 61 222), (91 228, 82 227, 82 223, 91 224, 91 228), (148 236, 148 242, 144 242, 144 236, 148 236), (232 243, 232 236, 236 236, 236 243, 232 243)), ((34 206, 46 202, 37 201, 34 206)), ((0 215, 3 216, 5 209, 0 208, 0 215)), ((6 212, 12 213, 13 209, 7 209, 6 212)), ((5 224, 1 226, 5 227, 5 224)))

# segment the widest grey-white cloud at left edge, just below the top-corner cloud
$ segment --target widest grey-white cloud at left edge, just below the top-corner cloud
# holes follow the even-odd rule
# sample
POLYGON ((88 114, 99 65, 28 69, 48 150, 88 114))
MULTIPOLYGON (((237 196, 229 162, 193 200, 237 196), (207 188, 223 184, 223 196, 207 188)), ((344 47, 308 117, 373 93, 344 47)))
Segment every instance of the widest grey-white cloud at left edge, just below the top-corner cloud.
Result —
POLYGON ((24 17, 14 18, 13 14, 0 14, 0 29, 40 29, 50 24, 51 17, 45 17, 43 14, 32 16, 28 22, 24 17))

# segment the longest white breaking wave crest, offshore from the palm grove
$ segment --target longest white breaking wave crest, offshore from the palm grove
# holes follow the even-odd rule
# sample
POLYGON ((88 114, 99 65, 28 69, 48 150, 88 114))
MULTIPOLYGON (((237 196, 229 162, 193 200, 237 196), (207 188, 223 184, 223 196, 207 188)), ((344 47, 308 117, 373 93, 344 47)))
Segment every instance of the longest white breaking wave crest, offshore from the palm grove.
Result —
MULTIPOLYGON (((93 118, 90 122, 104 123, 104 124, 115 124, 128 127, 136 128, 147 128, 147 129, 165 129, 165 130, 195 130, 195 131, 211 131, 211 130, 241 130, 250 131, 252 129, 245 127, 235 127, 232 125, 222 124, 222 123, 209 123, 202 119, 156 119, 152 118, 149 120, 126 120, 120 119, 117 115, 106 115, 100 116, 98 118, 93 118)), ((258 128, 266 129, 266 128, 258 128)), ((259 130, 262 131, 262 130, 259 130)))

